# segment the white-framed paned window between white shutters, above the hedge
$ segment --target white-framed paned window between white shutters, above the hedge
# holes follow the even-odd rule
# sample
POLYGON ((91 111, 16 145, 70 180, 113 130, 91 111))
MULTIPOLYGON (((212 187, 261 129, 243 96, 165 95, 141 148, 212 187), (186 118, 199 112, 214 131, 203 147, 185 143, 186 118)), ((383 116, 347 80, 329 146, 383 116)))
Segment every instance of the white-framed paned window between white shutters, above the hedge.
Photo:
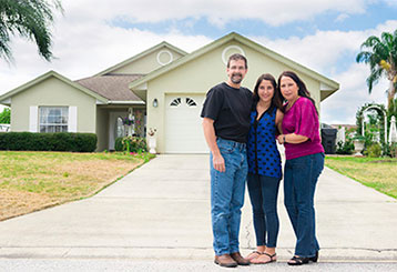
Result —
POLYGON ((40 107, 40 132, 68 132, 69 108, 40 107))

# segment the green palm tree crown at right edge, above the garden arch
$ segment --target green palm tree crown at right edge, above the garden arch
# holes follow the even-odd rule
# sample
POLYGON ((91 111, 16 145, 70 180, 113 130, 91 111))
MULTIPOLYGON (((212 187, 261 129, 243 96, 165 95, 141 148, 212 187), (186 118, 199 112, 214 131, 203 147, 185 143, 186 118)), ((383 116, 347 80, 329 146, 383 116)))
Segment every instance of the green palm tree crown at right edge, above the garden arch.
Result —
POLYGON ((369 37, 362 44, 362 52, 357 54, 356 61, 365 62, 370 67, 370 74, 367 78, 369 93, 381 77, 389 80, 387 90, 387 108, 389 108, 397 84, 397 30, 394 33, 383 32, 380 39, 375 36, 369 37))

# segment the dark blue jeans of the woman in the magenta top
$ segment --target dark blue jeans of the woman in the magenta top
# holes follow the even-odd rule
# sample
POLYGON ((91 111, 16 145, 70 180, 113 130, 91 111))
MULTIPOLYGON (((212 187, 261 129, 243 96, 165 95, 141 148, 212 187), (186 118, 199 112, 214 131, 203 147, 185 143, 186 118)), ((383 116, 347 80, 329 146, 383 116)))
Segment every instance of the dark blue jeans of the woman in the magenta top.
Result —
POLYGON ((286 160, 284 203, 296 235, 295 255, 314 256, 319 250, 316 238, 314 193, 324 169, 324 153, 286 160))

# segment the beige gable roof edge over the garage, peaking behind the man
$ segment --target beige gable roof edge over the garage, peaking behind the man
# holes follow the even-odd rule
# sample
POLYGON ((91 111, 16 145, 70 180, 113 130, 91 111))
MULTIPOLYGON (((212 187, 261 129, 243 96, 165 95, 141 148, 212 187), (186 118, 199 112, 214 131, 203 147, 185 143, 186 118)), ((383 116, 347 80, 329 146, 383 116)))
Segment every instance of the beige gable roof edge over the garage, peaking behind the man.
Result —
POLYGON ((198 49, 198 50, 196 50, 196 51, 194 51, 194 52, 192 52, 190 54, 185 54, 184 57, 171 62, 167 66, 164 66, 164 67, 162 67, 162 68, 160 68, 157 70, 154 70, 153 72, 149 73, 147 75, 145 75, 145 77, 143 77, 143 78, 141 78, 139 80, 135 80, 132 83, 130 83, 129 88, 131 90, 134 90, 135 88, 146 83, 147 81, 150 81, 150 80, 152 80, 154 78, 157 78, 161 74, 166 73, 166 72, 169 72, 169 71, 171 71, 171 70, 173 70, 173 69, 175 69, 175 68, 177 68, 177 67, 180 67, 180 66, 182 66, 182 64, 184 64, 184 63, 186 63, 189 61, 192 61, 192 60, 203 56, 204 53, 206 53, 208 51, 212 51, 215 48, 218 48, 220 46, 222 46, 224 43, 227 43, 227 42, 230 42, 232 40, 236 40, 236 41, 238 41, 238 42, 241 42, 241 43, 243 43, 243 44, 245 44, 245 46, 247 46, 247 47, 250 47, 250 48, 252 48, 252 49, 254 49, 256 51, 259 51, 259 52, 268 56, 269 58, 273 58, 273 59, 275 59, 275 60, 277 60, 279 62, 285 63, 286 66, 291 67, 292 69, 294 69, 294 70, 296 70, 298 72, 302 72, 302 73, 304 73, 304 74, 306 74, 306 75, 308 75, 311 78, 314 78, 314 79, 318 80, 325 87, 326 90, 324 90, 324 91, 327 92, 327 95, 330 95, 333 92, 335 92, 335 91, 337 91, 339 89, 339 83, 338 82, 336 82, 336 81, 334 81, 332 79, 328 79, 328 78, 326 78, 326 77, 324 77, 324 75, 322 75, 322 74, 319 74, 319 73, 317 73, 317 72, 315 72, 315 71, 313 71, 313 70, 311 70, 311 69, 308 69, 308 68, 306 68, 306 67, 304 67, 304 66, 302 66, 302 64, 299 64, 299 63, 297 63, 295 61, 293 61, 293 60, 289 60, 289 59, 283 57, 283 56, 281 56, 279 53, 276 53, 276 52, 274 52, 274 51, 272 51, 272 50, 269 50, 269 49, 267 49, 267 48, 265 48, 265 47, 263 47, 263 46, 261 46, 261 44, 258 44, 258 43, 256 43, 256 42, 254 42, 254 41, 252 41, 252 40, 250 40, 250 39, 247 39, 247 38, 245 38, 243 36, 241 36, 241 34, 235 33, 235 32, 231 32, 230 34, 224 36, 223 38, 221 38, 221 39, 218 39, 216 41, 213 41, 210 44, 207 44, 207 46, 205 46, 205 47, 203 47, 203 48, 201 48, 201 49, 198 49))

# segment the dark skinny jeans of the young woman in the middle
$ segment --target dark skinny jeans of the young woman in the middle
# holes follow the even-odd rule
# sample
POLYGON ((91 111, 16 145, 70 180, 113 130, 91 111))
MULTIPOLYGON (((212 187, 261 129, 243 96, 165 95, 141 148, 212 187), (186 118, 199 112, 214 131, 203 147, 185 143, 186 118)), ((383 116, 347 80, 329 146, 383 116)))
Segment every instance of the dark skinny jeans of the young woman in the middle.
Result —
POLYGON ((254 215, 256 245, 276 248, 279 228, 277 215, 279 179, 248 173, 247 187, 254 215))

